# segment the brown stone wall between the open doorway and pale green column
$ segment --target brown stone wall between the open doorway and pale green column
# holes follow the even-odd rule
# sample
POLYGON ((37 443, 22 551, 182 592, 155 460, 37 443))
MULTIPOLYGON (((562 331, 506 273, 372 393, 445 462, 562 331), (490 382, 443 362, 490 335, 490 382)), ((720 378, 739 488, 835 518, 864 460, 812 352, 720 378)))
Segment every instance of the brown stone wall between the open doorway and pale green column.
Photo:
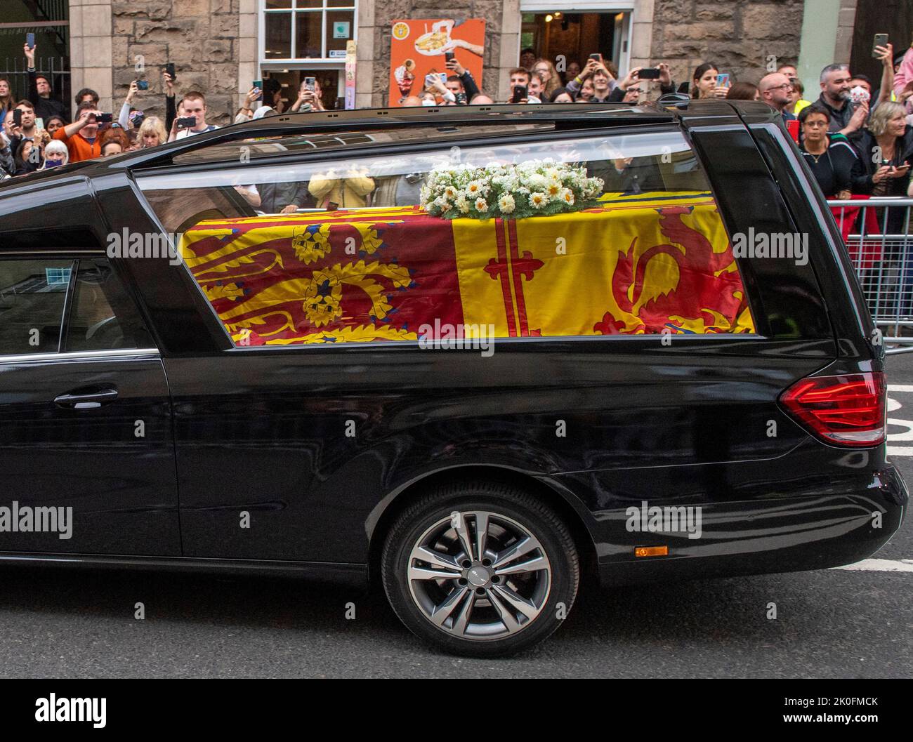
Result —
POLYGON ((757 83, 769 57, 795 64, 802 21, 803 0, 655 0, 651 57, 668 62, 677 83, 705 61, 757 83))

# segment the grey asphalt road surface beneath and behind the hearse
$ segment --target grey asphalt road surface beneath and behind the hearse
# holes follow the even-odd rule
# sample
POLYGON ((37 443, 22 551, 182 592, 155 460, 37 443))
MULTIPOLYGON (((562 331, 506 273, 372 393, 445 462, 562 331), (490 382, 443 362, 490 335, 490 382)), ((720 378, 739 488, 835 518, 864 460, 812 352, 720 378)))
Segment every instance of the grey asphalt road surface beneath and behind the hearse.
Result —
MULTIPOLYGON (((890 357, 887 380, 888 455, 913 483, 913 354, 890 357)), ((913 674, 911 517, 851 568, 591 590, 551 639, 495 661, 436 653, 382 599, 301 580, 38 568, 0 580, 5 677, 913 674)))

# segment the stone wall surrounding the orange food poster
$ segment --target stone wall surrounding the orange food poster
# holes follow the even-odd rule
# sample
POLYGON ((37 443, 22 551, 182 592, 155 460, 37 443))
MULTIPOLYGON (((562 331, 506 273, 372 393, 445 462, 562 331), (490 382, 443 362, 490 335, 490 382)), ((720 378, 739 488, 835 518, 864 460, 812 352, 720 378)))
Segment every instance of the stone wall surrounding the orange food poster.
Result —
MULTIPOLYGON (((361 5, 372 0, 362 0, 361 5)), ((390 89, 390 33, 398 18, 484 18, 485 55, 482 88, 494 99, 506 95, 505 67, 516 64, 519 44, 519 0, 386 0, 372 3, 370 25, 360 25, 359 46, 373 51, 371 67, 371 103, 386 106, 390 89), (370 39, 365 39, 365 36, 370 39), (509 61, 512 60, 512 61, 509 61), (502 79, 503 78, 503 79, 502 79)), ((360 14, 361 16, 361 14, 360 14)), ((362 16, 361 23, 364 23, 362 16)), ((359 78, 362 77, 362 53, 359 53, 359 78)), ((359 91, 368 93, 363 85, 359 91)), ((361 96, 360 96, 361 98, 361 96)), ((367 102, 360 101, 360 105, 367 102)))

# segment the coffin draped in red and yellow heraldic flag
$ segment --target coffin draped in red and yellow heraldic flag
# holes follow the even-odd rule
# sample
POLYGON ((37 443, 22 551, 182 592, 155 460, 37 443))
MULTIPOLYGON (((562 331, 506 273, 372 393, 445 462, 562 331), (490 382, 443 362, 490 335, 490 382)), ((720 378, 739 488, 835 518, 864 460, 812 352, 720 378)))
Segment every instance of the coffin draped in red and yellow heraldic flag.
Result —
POLYGON ((753 332, 709 193, 606 194, 516 220, 419 206, 213 219, 181 252, 241 344, 753 332))

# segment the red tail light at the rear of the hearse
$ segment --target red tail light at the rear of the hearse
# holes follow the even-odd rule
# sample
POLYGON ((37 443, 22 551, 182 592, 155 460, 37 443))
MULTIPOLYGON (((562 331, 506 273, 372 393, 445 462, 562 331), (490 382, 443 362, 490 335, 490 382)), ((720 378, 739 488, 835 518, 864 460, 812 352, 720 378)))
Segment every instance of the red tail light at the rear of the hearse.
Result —
POLYGON ((792 417, 825 443, 869 448, 885 442, 881 371, 800 379, 780 395, 792 417))

